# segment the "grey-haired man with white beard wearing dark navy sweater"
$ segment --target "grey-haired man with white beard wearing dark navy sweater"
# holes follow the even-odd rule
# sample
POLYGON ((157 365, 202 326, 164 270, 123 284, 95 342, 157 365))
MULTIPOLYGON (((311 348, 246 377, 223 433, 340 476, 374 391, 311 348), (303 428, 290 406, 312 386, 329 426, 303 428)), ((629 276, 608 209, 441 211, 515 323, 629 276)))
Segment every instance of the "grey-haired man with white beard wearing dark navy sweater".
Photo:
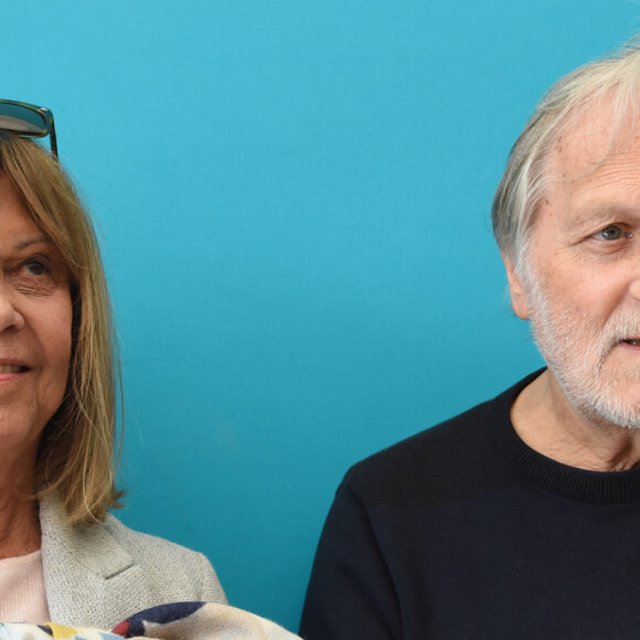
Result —
POLYGON ((493 204, 547 364, 353 467, 308 640, 640 634, 640 45, 542 99, 493 204))

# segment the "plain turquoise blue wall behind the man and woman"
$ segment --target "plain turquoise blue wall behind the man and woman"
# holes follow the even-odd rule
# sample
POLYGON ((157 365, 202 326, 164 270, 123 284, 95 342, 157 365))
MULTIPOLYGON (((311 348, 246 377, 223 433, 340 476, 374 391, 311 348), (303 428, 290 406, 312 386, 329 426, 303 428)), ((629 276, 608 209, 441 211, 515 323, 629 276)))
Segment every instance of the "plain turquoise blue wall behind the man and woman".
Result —
MULTIPOLYGON (((628 0, 2 2, 1 96, 50 107, 100 227, 129 525, 296 629, 350 465, 540 359, 489 224, 548 85, 628 0)), ((463 442, 460 444, 463 446, 463 442)))

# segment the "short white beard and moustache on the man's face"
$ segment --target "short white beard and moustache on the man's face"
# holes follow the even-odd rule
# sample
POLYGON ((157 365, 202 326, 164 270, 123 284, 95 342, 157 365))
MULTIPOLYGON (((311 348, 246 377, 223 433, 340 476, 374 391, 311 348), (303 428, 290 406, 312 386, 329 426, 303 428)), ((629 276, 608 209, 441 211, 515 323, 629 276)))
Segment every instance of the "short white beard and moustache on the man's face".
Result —
POLYGON ((535 277, 524 284, 533 338, 574 409, 600 425, 640 428, 640 359, 617 371, 605 367, 620 340, 640 337, 640 311, 618 311, 597 324, 577 317, 570 302, 550 305, 535 277), (626 394, 631 382, 638 393, 626 394))

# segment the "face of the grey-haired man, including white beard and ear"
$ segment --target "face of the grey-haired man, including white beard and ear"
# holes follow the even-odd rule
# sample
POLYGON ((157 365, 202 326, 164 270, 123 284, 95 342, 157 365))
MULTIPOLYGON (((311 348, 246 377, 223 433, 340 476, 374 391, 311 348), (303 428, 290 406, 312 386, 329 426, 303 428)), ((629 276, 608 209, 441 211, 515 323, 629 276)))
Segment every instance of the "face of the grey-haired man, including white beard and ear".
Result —
POLYGON ((619 131, 604 106, 563 131, 527 275, 505 263, 514 311, 531 319, 565 405, 556 408, 640 427, 640 119, 619 131))

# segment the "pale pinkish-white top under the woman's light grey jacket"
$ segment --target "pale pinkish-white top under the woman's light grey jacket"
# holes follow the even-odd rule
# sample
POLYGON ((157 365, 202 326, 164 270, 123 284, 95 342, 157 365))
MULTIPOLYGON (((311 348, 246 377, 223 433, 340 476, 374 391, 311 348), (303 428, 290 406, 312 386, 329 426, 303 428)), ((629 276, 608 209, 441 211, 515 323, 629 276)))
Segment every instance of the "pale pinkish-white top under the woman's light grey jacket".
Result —
POLYGON ((0 561, 0 621, 49 622, 40 550, 0 561))

